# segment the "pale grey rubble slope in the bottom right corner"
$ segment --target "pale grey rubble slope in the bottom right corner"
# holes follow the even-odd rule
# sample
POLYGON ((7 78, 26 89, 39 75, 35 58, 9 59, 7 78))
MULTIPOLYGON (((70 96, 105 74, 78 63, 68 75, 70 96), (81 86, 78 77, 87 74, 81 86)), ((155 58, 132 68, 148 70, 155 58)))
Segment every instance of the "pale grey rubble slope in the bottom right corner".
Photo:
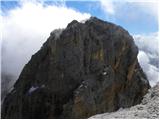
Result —
POLYGON ((104 113, 90 119, 158 119, 159 118, 159 84, 149 89, 141 104, 131 108, 120 108, 116 112, 104 113))

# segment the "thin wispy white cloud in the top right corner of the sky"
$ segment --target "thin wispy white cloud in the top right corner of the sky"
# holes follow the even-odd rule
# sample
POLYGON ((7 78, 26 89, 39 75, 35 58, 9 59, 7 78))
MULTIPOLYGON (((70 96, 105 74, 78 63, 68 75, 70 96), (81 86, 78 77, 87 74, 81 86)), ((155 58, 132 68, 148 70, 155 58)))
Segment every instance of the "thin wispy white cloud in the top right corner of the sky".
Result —
MULTIPOLYGON (((99 0, 102 10, 106 15, 119 16, 119 14, 124 14, 123 10, 125 8, 125 14, 129 14, 131 6, 128 7, 128 3, 132 3, 132 7, 135 9, 140 9, 143 12, 158 19, 158 0, 99 0)), ((135 12, 135 10, 134 10, 135 12)), ((124 17, 124 15, 123 15, 124 17)))

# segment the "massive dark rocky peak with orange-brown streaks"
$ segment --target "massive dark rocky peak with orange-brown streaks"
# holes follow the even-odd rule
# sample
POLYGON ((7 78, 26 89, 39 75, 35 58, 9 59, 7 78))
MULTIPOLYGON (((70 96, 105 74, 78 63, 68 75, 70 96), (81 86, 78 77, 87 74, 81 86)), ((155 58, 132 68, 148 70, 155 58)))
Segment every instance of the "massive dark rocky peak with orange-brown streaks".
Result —
POLYGON ((25 65, 2 118, 87 118, 138 104, 150 86, 137 54, 120 26, 74 20, 25 65))

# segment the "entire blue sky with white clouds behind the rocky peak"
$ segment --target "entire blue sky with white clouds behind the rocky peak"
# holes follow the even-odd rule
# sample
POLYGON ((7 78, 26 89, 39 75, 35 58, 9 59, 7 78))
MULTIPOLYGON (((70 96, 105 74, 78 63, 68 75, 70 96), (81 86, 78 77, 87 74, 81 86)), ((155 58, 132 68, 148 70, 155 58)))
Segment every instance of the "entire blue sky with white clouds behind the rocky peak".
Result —
MULTIPOLYGON (((49 37, 73 19, 96 16, 129 31, 151 85, 158 81, 158 0, 1 0, 2 73, 15 76, 49 37)), ((13 83, 12 83, 13 84, 13 83)))

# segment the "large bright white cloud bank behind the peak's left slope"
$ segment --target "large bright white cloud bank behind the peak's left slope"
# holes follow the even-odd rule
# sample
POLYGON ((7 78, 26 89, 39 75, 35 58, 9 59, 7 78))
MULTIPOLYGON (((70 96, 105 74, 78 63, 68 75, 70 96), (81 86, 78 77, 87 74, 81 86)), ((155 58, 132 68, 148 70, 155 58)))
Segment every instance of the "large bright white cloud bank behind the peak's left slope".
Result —
POLYGON ((80 13, 64 4, 44 6, 43 2, 21 1, 21 7, 1 17, 2 72, 17 78, 52 30, 65 28, 74 19, 87 19, 90 14, 80 13))

